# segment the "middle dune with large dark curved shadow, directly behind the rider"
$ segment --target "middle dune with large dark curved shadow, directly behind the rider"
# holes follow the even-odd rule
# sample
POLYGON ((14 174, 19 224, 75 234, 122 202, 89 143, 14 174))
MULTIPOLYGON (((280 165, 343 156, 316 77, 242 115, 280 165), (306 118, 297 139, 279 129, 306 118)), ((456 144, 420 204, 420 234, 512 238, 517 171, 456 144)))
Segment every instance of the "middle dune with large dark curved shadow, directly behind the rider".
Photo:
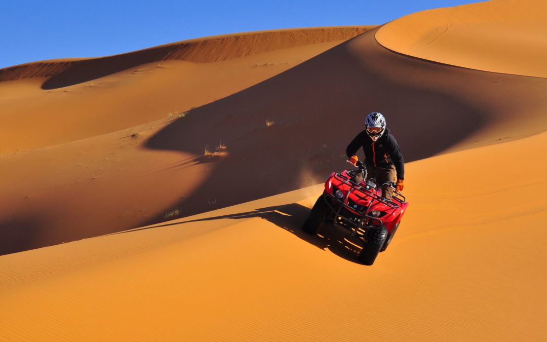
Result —
POLYGON ((183 118, 0 158, 1 253, 162 222, 175 208, 193 215, 316 184, 345 166, 347 143, 374 110, 387 115, 406 161, 545 130, 544 80, 401 56, 374 33, 183 118), (221 142, 222 155, 203 156, 221 142))

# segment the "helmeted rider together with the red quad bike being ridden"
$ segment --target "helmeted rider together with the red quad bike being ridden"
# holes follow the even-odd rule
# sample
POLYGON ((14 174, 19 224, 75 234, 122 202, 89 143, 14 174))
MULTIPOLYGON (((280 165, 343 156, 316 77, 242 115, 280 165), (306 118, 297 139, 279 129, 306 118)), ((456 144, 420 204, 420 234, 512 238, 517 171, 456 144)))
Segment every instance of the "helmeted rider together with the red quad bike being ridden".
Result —
POLYGON ((343 229, 364 242, 358 259, 365 265, 372 265, 378 253, 385 251, 393 239, 408 207, 400 193, 403 156, 380 113, 370 113, 366 117, 366 130, 353 139, 347 154, 351 156, 348 162, 357 170, 330 174, 323 194, 313 205, 302 230, 315 235, 324 223, 343 229), (366 163, 358 161, 355 155, 361 146, 366 163), (395 172, 397 183, 393 182, 395 172))

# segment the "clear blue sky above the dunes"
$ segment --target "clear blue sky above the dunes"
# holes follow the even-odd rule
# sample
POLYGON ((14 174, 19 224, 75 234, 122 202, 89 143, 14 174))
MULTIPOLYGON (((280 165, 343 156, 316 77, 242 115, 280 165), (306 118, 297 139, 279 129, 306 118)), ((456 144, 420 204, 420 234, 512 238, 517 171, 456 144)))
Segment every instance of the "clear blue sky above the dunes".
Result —
POLYGON ((113 55, 216 34, 383 24, 415 11, 473 2, 8 0, 0 12, 0 68, 113 55))

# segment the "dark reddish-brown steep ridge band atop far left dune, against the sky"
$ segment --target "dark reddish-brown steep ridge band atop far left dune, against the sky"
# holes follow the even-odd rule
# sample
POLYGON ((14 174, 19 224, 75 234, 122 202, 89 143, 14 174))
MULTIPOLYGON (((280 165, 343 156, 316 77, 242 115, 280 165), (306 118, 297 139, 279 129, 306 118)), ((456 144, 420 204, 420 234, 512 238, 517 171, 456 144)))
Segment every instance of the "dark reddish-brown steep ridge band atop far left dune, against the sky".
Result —
POLYGON ((43 89, 56 89, 152 62, 182 60, 211 63, 296 46, 345 40, 370 27, 320 27, 225 34, 114 56, 26 63, 0 69, 0 82, 57 76, 42 85, 43 89))

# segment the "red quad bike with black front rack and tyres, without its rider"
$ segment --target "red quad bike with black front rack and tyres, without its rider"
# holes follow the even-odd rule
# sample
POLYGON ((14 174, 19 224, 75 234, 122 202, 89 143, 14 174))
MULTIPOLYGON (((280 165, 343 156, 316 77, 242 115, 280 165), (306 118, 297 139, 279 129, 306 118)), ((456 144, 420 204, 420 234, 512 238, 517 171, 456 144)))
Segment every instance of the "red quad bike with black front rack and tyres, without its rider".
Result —
POLYGON ((302 230, 315 235, 324 223, 345 229, 364 242, 359 262, 372 265, 393 239, 409 204, 395 183, 377 184, 374 178, 366 182, 366 167, 360 161, 356 166, 357 170, 331 173, 302 230), (356 181, 361 178, 356 176, 363 180, 356 181), (382 197, 382 187, 394 189, 391 200, 382 197))

